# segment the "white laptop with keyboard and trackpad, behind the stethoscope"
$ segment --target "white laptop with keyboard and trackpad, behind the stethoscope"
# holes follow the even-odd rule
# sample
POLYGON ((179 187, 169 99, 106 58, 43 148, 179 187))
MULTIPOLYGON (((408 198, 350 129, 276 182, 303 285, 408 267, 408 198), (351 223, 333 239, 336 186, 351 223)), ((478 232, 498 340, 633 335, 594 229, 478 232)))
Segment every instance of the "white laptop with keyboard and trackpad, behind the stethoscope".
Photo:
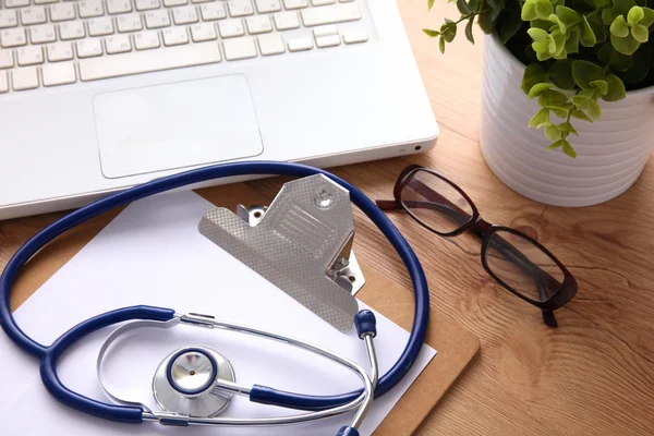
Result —
POLYGON ((0 219, 217 162, 330 167, 438 135, 395 0, 0 2, 0 219))

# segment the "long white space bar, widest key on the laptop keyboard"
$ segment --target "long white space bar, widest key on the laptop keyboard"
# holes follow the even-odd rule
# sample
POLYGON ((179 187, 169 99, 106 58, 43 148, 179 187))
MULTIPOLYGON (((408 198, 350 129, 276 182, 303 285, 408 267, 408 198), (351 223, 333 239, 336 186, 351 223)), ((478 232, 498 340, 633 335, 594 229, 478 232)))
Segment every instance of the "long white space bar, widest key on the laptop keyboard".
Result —
MULTIPOLYGON (((136 38, 135 38, 136 39, 136 38)), ((132 51, 123 55, 80 60, 82 81, 118 77, 182 66, 220 62, 216 43, 199 43, 160 50, 132 51)))

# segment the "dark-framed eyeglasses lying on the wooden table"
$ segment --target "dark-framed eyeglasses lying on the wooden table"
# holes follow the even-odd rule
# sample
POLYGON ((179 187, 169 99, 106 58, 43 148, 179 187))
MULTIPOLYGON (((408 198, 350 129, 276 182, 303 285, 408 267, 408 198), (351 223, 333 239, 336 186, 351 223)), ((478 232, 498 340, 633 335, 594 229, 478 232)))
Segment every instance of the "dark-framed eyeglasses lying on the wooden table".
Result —
POLYGON ((482 265, 507 290, 540 307, 556 327, 555 310, 577 293, 574 277, 534 239, 508 227, 489 225, 455 183, 436 171, 409 166, 393 189, 395 199, 377 201, 384 210, 404 209, 434 233, 449 238, 471 231, 482 241, 482 265))

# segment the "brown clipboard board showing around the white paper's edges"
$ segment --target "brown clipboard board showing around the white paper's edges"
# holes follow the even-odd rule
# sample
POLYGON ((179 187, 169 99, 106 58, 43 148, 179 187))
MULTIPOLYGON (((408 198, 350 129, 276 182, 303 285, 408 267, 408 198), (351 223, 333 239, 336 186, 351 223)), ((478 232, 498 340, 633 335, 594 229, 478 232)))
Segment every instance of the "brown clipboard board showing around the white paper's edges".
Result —
MULTIPOLYGON (((264 205, 270 202, 244 183, 203 189, 196 193, 216 206, 232 210, 237 204, 264 205)), ((16 280, 11 298, 12 311, 82 250, 120 210, 111 210, 77 226, 29 261, 16 280)), ((365 264, 361 267, 366 284, 356 298, 409 330, 413 320, 412 292, 365 264)), ((434 308, 425 341, 438 353, 377 427, 375 436, 412 434, 480 351, 479 338, 434 308)))

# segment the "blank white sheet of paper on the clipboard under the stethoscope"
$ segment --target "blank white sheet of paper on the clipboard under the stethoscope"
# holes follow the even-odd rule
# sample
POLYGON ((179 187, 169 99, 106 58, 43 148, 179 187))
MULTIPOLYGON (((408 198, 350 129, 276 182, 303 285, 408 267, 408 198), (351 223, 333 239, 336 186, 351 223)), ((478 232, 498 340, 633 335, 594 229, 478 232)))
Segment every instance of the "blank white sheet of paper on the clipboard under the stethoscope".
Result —
MULTIPOLYGON (((15 313, 21 327, 41 343, 97 314, 134 304, 199 312, 217 318, 268 329, 315 342, 360 363, 365 348, 355 332, 341 334, 304 306, 231 257, 197 231, 211 204, 192 192, 170 193, 129 206, 15 313)), ((363 308, 365 305, 360 303, 363 308)), ((384 374, 404 348, 408 334, 377 314, 375 339, 384 374)), ((111 402, 97 380, 95 361, 111 328, 81 340, 60 360, 60 378, 71 389, 111 402)), ((156 408, 152 377, 170 352, 205 344, 233 364, 239 383, 259 384, 312 395, 342 393, 361 388, 351 372, 313 354, 240 334, 179 326, 144 329, 125 337, 107 356, 107 378, 113 393, 156 408)), ((370 435, 434 358, 424 346, 410 375, 375 401, 361 429, 370 435)), ((41 385, 39 362, 0 335, 0 434, 9 435, 334 435, 352 414, 293 427, 213 428, 183 431, 156 423, 113 423, 85 415, 57 402, 41 385)), ((158 408, 157 408, 158 409, 158 408)), ((275 416, 296 411, 254 404, 234 398, 227 416, 275 416)))

